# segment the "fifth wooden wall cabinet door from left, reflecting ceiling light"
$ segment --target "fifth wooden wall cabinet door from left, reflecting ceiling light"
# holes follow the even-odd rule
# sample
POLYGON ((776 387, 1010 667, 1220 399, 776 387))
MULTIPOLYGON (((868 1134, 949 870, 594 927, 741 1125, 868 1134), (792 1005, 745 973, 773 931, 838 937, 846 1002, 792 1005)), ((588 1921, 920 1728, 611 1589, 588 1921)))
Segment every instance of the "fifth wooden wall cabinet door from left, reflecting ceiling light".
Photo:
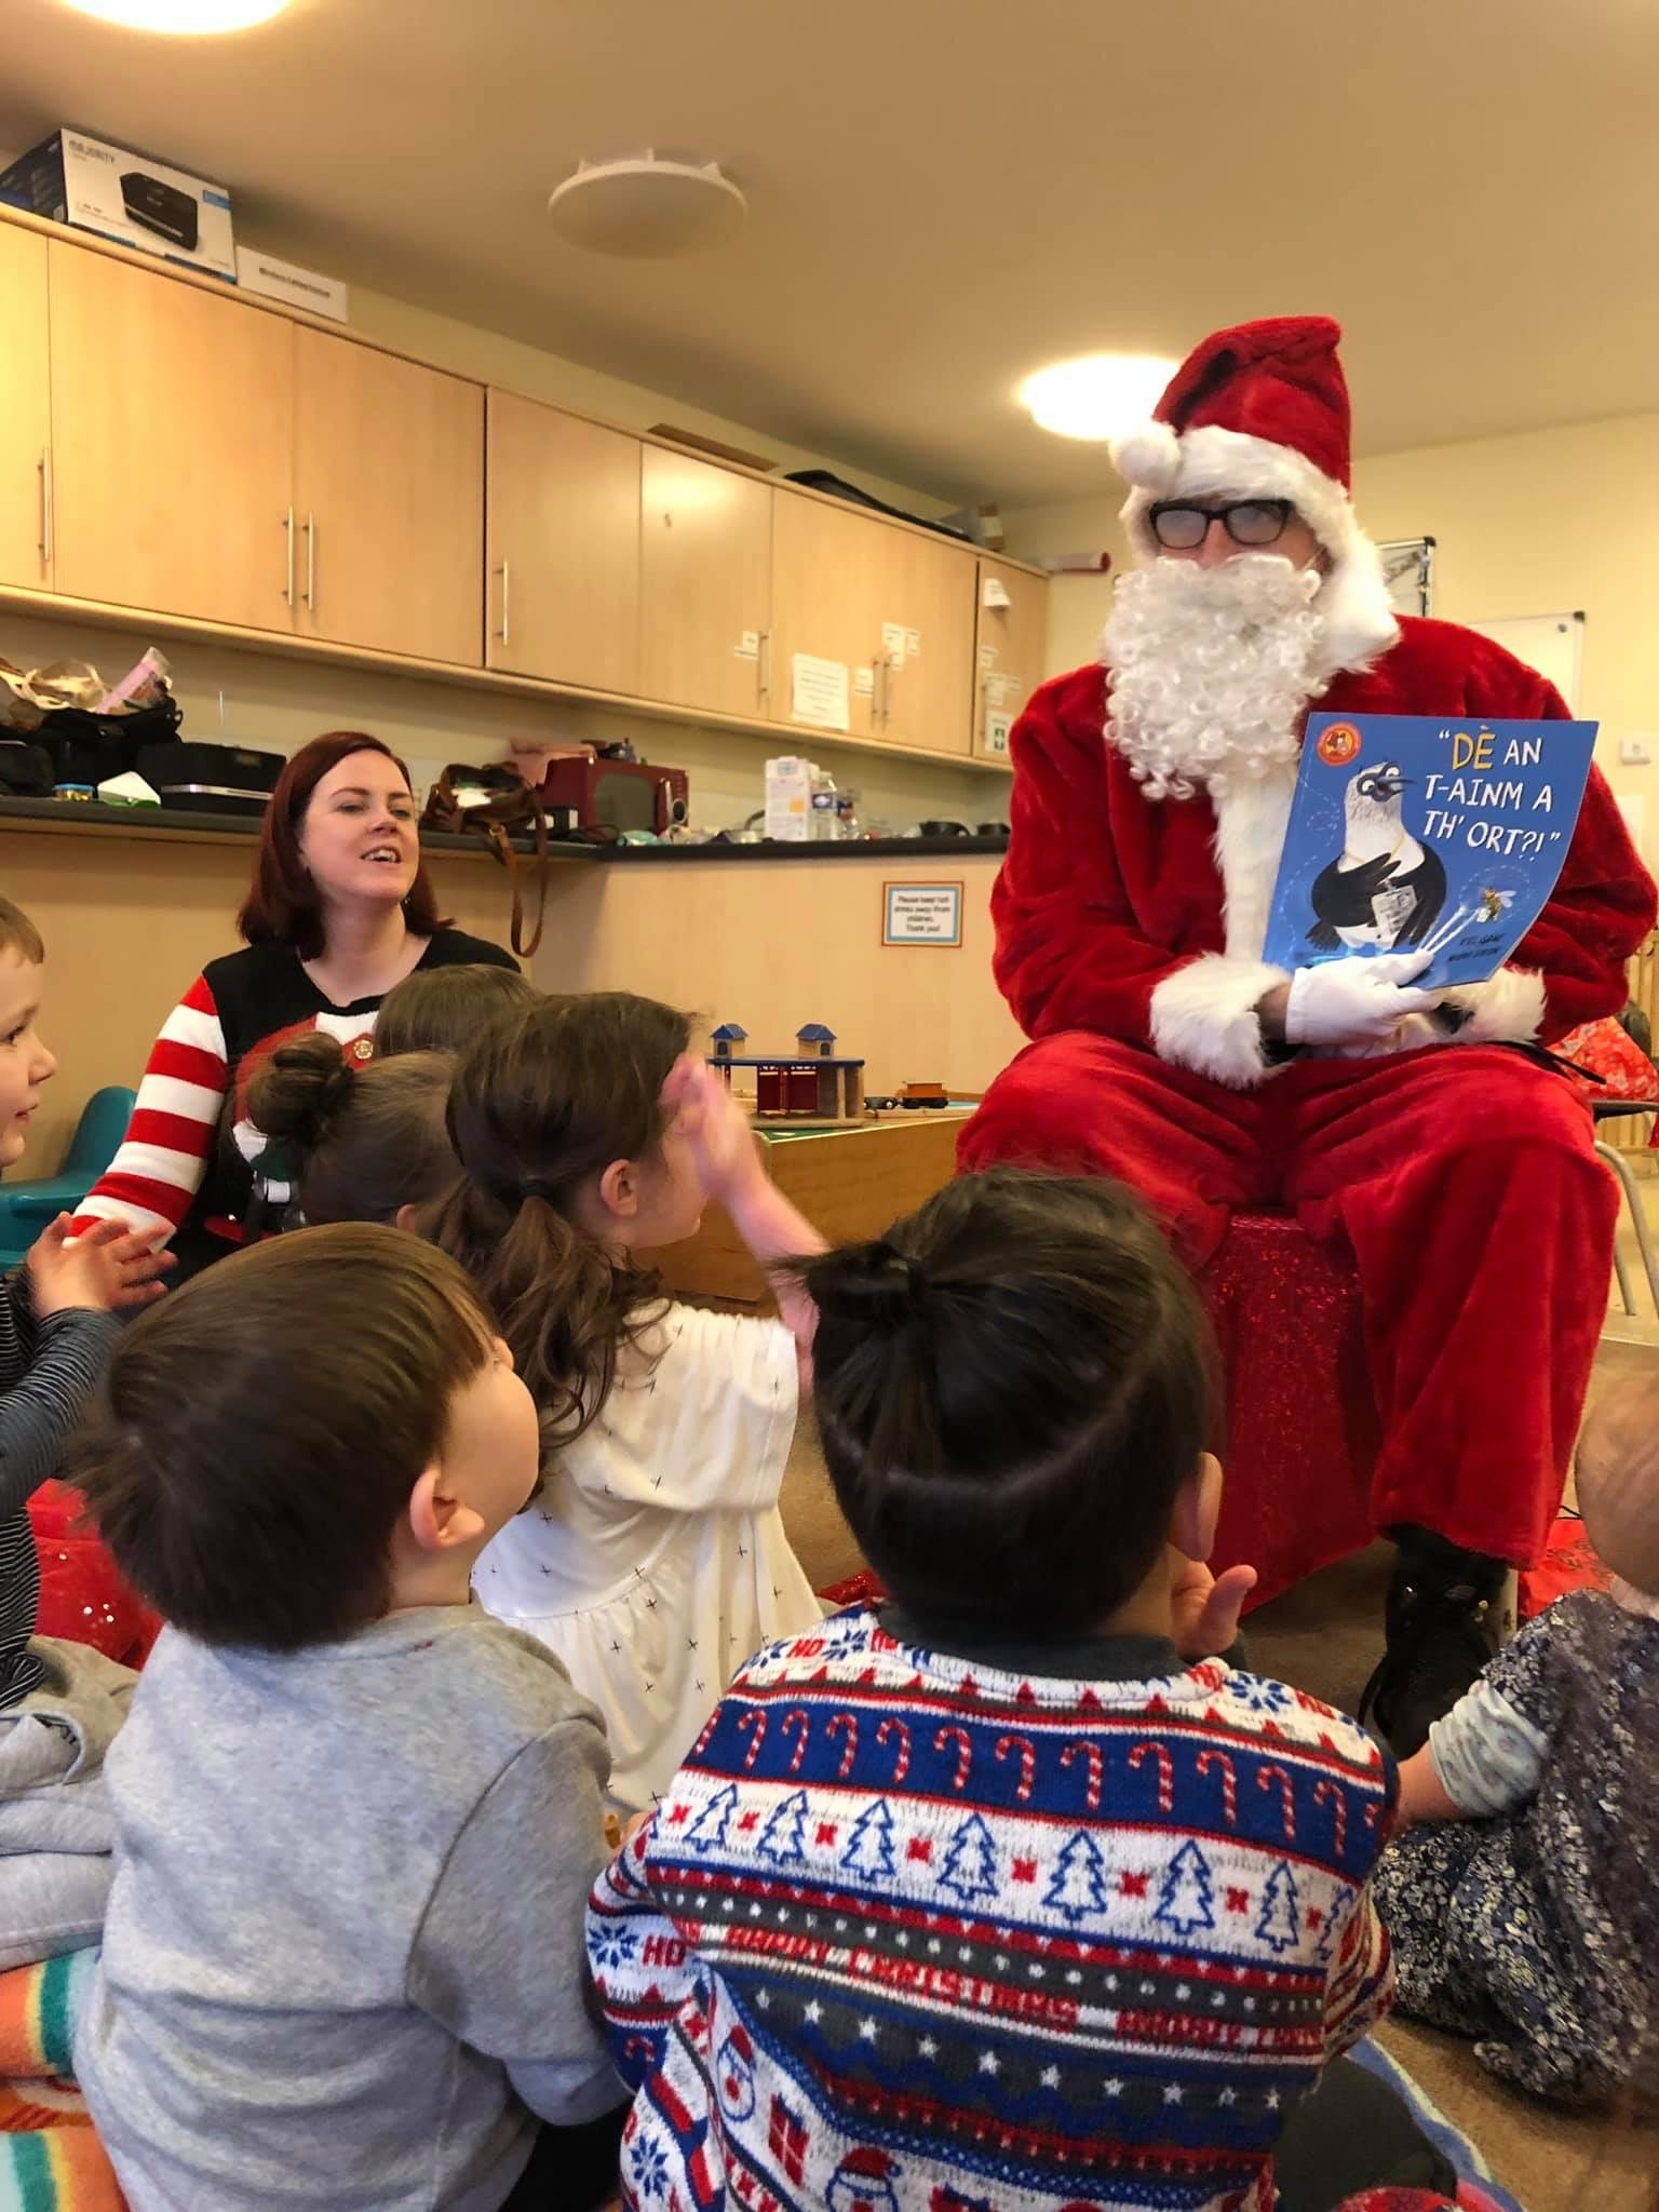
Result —
POLYGON ((772 664, 772 487, 644 449, 639 690, 761 714, 772 664))

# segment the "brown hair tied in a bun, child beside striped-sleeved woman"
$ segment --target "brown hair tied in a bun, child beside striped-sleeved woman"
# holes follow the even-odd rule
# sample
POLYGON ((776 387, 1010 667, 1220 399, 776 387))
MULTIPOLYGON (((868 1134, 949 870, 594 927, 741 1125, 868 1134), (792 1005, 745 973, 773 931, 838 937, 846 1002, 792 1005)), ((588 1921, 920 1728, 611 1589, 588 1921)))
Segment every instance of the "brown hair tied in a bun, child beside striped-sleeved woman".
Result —
POLYGON ((453 1053, 358 1064, 323 1031, 292 1037, 248 1079, 248 1119, 307 1223, 396 1221, 460 1175, 445 1108, 453 1053))

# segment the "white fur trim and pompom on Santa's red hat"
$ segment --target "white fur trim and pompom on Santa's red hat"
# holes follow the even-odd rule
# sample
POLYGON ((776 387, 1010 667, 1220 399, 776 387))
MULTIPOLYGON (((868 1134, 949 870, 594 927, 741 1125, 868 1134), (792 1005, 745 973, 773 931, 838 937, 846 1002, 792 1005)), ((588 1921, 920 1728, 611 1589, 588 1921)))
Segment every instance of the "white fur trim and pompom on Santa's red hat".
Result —
POLYGON ((1141 560, 1157 560, 1159 553, 1146 520, 1159 500, 1290 500, 1329 555, 1316 599, 1325 617, 1329 675, 1338 668, 1369 668, 1400 635, 1383 555, 1360 529, 1354 502, 1296 447, 1219 425, 1177 438, 1166 422, 1150 422, 1113 445, 1113 462, 1133 487, 1121 520, 1141 560), (1164 440, 1177 447, 1175 469, 1164 440))

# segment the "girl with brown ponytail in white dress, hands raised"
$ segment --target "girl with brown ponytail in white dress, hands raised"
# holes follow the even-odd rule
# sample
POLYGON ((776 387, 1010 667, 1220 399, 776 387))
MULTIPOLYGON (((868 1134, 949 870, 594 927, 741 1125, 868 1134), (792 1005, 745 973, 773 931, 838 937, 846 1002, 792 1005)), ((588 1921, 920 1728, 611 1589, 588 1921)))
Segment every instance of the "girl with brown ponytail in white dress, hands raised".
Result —
POLYGON ((641 1256, 710 1199, 763 1265, 823 1248, 688 1033, 626 991, 493 1022, 449 1093, 462 1179, 418 1217, 498 1314, 549 1447, 478 1595, 604 1712, 622 1814, 668 1787, 734 1668, 823 1615, 779 1517, 807 1298, 785 1283, 781 1321, 701 1312, 641 1256))

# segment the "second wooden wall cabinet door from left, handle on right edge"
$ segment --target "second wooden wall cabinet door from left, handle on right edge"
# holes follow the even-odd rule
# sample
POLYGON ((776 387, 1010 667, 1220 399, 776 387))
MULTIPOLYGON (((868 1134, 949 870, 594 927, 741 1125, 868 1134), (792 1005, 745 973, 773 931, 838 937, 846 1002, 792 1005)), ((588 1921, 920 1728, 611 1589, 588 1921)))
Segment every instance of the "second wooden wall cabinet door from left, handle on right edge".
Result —
POLYGON ((294 325, 49 246, 55 584, 294 626, 294 325))

